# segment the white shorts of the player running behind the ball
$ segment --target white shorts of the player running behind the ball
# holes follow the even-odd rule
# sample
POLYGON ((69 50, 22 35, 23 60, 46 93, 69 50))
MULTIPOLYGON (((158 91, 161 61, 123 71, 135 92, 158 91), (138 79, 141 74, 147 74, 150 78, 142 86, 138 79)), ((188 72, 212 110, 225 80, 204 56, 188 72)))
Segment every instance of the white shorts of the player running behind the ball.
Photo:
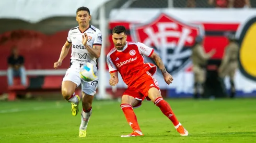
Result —
POLYGON ((73 62, 71 66, 67 69, 66 74, 63 77, 63 81, 72 81, 77 86, 82 83, 82 92, 94 96, 96 94, 96 89, 98 86, 98 79, 91 82, 85 82, 80 79, 79 71, 80 63, 73 62))

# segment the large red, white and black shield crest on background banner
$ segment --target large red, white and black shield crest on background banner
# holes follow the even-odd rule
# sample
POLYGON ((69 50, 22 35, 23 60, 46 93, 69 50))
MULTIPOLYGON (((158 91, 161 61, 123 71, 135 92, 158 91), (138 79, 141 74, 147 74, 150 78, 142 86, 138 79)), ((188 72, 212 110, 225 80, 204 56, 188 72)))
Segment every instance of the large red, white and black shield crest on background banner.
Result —
POLYGON ((195 37, 203 33, 200 25, 182 22, 163 13, 149 22, 131 27, 133 41, 153 47, 172 74, 189 66, 195 37))

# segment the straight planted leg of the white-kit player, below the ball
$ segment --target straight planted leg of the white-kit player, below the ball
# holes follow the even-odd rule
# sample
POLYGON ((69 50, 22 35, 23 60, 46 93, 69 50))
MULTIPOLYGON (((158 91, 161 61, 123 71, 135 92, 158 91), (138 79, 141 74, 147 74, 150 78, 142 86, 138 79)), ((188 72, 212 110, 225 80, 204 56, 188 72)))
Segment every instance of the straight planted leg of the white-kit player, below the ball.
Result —
POLYGON ((82 99, 82 113, 81 113, 81 124, 79 127, 79 136, 78 137, 86 137, 86 129, 88 126, 88 122, 90 120, 90 116, 92 113, 92 101, 94 100, 94 95, 96 93, 96 89, 98 86, 98 80, 92 82, 84 82, 82 81, 82 91, 83 91, 83 99, 82 99))

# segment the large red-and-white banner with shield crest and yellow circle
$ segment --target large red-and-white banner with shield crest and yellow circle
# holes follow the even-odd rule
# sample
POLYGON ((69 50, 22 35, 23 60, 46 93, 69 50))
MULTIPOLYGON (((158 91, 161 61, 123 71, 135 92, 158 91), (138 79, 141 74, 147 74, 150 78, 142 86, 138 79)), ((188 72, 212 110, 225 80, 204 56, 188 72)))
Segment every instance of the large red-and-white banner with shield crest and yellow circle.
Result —
MULTIPOLYGON (((163 59, 167 70, 174 76, 174 82, 167 85, 159 72, 155 77, 161 89, 169 89, 169 97, 192 95, 190 48, 196 35, 205 36, 206 52, 217 50, 212 60, 221 60, 228 43, 225 34, 235 33, 240 44, 240 66, 235 79, 237 94, 255 96, 255 9, 114 9, 110 14, 110 33, 113 27, 120 24, 127 29, 128 41, 143 42, 155 48, 163 59)), ((229 89, 228 79, 225 83, 229 89)), ((118 84, 118 87, 123 86, 118 84)))

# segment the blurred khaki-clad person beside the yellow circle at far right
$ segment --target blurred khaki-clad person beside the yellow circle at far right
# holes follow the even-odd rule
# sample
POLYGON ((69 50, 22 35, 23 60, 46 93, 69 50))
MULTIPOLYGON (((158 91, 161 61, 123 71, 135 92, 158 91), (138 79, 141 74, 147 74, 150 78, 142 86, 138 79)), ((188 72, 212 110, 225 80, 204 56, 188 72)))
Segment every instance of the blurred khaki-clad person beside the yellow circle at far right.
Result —
POLYGON ((235 72, 238 68, 238 51, 239 46, 236 42, 234 34, 227 34, 229 44, 225 47, 222 63, 220 64, 218 73, 219 76, 223 79, 225 76, 229 76, 231 93, 230 97, 235 97, 236 88, 235 88, 235 72))

